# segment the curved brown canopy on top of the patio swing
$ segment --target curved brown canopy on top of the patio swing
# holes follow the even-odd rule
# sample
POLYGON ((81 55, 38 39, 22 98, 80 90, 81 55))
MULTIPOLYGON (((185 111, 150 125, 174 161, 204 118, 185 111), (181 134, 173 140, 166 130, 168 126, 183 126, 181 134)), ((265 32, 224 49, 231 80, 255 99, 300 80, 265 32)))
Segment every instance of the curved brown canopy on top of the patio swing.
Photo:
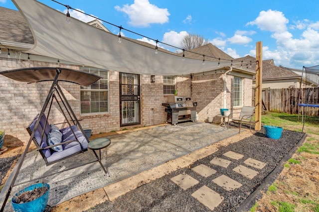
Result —
POLYGON ((20 82, 36 83, 43 81, 53 81, 57 72, 60 72, 58 81, 76 83, 81 86, 89 86, 101 79, 100 76, 83 71, 51 67, 14 69, 9 71, 2 71, 0 72, 0 74, 20 82))

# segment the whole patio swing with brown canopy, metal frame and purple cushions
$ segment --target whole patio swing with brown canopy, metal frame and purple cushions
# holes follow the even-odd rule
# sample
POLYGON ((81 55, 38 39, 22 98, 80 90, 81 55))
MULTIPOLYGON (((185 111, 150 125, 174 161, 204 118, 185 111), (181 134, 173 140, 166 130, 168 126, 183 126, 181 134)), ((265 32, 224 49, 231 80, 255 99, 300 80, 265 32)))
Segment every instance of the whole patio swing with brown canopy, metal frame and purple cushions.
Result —
MULTIPOLYGON (((74 155, 83 153, 88 150, 88 143, 90 141, 87 138, 81 124, 79 123, 79 120, 74 114, 74 111, 69 105, 66 97, 64 96, 58 82, 64 81, 64 82, 76 83, 81 86, 89 86, 95 83, 96 81, 98 81, 101 77, 90 74, 90 73, 86 73, 83 71, 66 69, 66 68, 51 68, 51 67, 15 69, 10 71, 0 72, 0 74, 17 81, 27 82, 27 83, 37 83, 37 82, 53 80, 53 83, 51 85, 51 88, 49 90, 49 93, 46 97, 46 100, 44 102, 44 105, 42 106, 40 113, 35 116, 35 118, 31 121, 31 123, 26 128, 28 133, 30 134, 30 139, 26 145, 25 151, 21 155, 19 161, 17 162, 15 168, 13 169, 11 173, 13 174, 13 177, 12 177, 12 180, 8 182, 10 183, 9 186, 8 187, 5 186, 8 189, 6 192, 5 200, 0 210, 0 211, 3 211, 5 204, 7 202, 7 199, 10 195, 10 192, 12 191, 12 188, 16 185, 27 183, 27 182, 20 182, 14 185, 32 140, 36 146, 37 151, 39 151, 39 153, 41 154, 47 166, 54 164, 58 161, 68 159, 74 155), (56 101, 61 113, 63 114, 65 118, 65 121, 58 124, 67 124, 67 127, 65 128, 56 129, 56 126, 54 124, 49 124, 48 122, 48 117, 51 111, 53 100, 56 101), (45 115, 44 112, 46 111, 48 105, 49 105, 49 108, 47 110, 47 114, 45 115), (48 136, 49 137, 52 136, 51 133, 54 130, 59 130, 60 132, 59 134, 62 134, 62 138, 61 138, 62 141, 61 143, 53 142, 53 143, 50 143, 49 145, 47 144, 47 138, 48 136)), ((51 141, 52 140, 54 141, 54 139, 51 139, 51 141)), ((93 151, 93 153, 96 156, 96 160, 86 162, 85 164, 80 164, 80 165, 77 164, 74 167, 64 169, 60 172, 68 171, 70 169, 74 169, 74 168, 84 166, 90 163, 99 162, 105 174, 108 174, 102 162, 99 160, 97 153, 95 151, 93 151)), ((48 174, 46 176, 41 176, 37 179, 32 179, 31 181, 45 178, 51 175, 55 175, 60 172, 55 172, 55 173, 48 174)))

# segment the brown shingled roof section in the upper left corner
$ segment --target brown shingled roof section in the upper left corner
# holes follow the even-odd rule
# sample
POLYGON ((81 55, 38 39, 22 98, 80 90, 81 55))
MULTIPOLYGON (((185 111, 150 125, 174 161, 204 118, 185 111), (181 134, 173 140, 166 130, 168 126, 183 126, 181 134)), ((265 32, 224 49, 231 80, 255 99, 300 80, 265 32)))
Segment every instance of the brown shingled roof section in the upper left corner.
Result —
POLYGON ((17 10, 0 7, 0 40, 34 44, 31 30, 17 10))

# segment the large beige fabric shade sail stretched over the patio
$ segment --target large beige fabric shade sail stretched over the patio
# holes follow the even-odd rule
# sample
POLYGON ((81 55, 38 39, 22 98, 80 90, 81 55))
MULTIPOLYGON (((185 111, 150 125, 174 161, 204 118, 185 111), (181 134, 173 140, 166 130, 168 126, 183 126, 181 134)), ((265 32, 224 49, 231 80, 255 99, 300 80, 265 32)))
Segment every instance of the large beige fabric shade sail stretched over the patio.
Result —
MULTIPOLYGON (((205 61, 159 51, 129 39, 118 42, 108 33, 72 18, 36 0, 12 0, 26 19, 34 46, 26 53, 63 59, 79 65, 146 75, 186 75, 212 71, 231 65, 231 61, 205 61)), ((207 58, 206 58, 207 59, 207 58)), ((233 63, 235 65, 236 63, 233 63)))

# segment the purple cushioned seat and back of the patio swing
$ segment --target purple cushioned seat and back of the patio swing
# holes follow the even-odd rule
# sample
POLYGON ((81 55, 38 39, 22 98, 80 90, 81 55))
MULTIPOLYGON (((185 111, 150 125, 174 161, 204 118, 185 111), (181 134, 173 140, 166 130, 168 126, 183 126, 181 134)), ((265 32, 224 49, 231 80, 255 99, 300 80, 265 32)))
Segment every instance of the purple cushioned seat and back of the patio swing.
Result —
MULTIPOLYGON (((34 125, 38 118, 39 114, 35 116, 35 118, 26 128, 30 135, 34 130, 34 125)), ((47 143, 47 136, 48 133, 51 131, 51 125, 47 121, 45 114, 41 115, 40 123, 35 130, 36 131, 32 140, 47 166, 66 158, 72 157, 76 154, 83 153, 88 149, 87 138, 84 136, 82 131, 77 128, 76 125, 71 125, 60 129, 59 131, 62 133, 62 141, 60 144, 54 145, 48 145, 47 143), (57 145, 62 145, 63 150, 55 151, 52 149, 52 147, 57 145)))

